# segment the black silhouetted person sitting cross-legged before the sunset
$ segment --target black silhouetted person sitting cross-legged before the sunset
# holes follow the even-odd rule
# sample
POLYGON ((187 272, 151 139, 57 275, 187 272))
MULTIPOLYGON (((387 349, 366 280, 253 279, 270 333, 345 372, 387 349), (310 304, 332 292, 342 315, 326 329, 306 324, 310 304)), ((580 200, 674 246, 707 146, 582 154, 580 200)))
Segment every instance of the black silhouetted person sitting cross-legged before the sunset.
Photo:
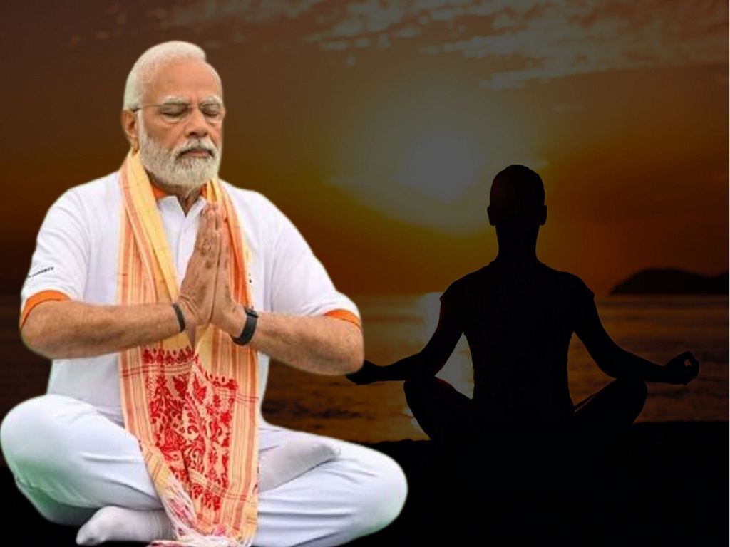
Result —
POLYGON ((347 376, 350 381, 404 381, 418 424, 443 446, 494 440, 503 432, 515 438, 519 431, 520 438, 533 432, 549 447, 556 435, 610 443, 641 413, 645 382, 686 385, 696 378, 699 362, 691 352, 658 365, 615 344, 585 283, 538 260, 537 236, 548 209, 536 172, 520 165, 500 171, 487 214, 496 229, 497 256, 442 294, 438 325, 426 346, 391 365, 366 360, 347 376), (567 372, 573 333, 614 379, 577 404, 567 372), (462 334, 474 367, 471 399, 436 377, 462 334))

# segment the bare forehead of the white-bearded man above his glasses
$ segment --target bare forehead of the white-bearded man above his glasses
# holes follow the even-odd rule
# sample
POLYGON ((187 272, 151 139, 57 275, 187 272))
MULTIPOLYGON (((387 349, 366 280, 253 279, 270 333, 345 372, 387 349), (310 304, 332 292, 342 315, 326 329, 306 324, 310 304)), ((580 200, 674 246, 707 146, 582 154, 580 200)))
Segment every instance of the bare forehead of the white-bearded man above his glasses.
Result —
POLYGON ((220 80, 211 66, 198 59, 171 61, 158 67, 145 85, 145 102, 170 98, 183 101, 221 99, 220 80))

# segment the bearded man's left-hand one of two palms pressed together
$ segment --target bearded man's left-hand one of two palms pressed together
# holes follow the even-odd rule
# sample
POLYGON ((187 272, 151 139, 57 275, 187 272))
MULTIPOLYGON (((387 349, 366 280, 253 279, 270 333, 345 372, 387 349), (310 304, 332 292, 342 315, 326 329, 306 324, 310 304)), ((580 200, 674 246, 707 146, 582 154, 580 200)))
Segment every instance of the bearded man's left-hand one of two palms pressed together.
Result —
POLYGON ((221 224, 218 205, 208 204, 201 212, 195 247, 185 271, 185 279, 180 286, 178 301, 188 329, 204 327, 211 319, 220 255, 221 224))

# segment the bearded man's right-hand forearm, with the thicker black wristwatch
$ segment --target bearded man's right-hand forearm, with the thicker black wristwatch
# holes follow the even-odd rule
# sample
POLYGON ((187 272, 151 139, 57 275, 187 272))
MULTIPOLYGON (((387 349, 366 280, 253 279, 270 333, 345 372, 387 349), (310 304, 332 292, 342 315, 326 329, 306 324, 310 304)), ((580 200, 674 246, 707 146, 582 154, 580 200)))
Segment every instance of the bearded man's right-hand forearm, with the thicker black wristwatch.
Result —
MULTIPOLYGON (((239 322, 242 330, 244 318, 239 322)), ((298 317, 262 312, 250 345, 277 361, 318 374, 347 374, 361 367, 361 330, 332 317, 298 317)))

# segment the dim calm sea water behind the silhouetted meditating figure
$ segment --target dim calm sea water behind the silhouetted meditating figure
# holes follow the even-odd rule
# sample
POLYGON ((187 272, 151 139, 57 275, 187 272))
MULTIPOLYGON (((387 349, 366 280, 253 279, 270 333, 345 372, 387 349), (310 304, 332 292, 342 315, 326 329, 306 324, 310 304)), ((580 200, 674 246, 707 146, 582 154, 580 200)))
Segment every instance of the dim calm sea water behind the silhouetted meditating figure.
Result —
MULTIPOLYGON (((439 294, 355 297, 363 316, 366 358, 380 365, 418 352, 436 325, 439 294)), ((0 410, 45 389, 48 365, 20 344, 15 299, 0 306, 0 410)), ((727 296, 610 297, 598 300, 604 326, 624 349, 664 363, 691 350, 699 378, 687 387, 649 384, 639 422, 726 421, 729 414, 727 296)), ((472 392, 469 347, 462 339, 439 376, 472 392)), ((569 352, 573 400, 610 379, 574 337, 569 352)), ((402 382, 356 386, 342 377, 315 376, 272 365, 264 406, 270 422, 359 442, 423 439, 410 416, 402 382)))

